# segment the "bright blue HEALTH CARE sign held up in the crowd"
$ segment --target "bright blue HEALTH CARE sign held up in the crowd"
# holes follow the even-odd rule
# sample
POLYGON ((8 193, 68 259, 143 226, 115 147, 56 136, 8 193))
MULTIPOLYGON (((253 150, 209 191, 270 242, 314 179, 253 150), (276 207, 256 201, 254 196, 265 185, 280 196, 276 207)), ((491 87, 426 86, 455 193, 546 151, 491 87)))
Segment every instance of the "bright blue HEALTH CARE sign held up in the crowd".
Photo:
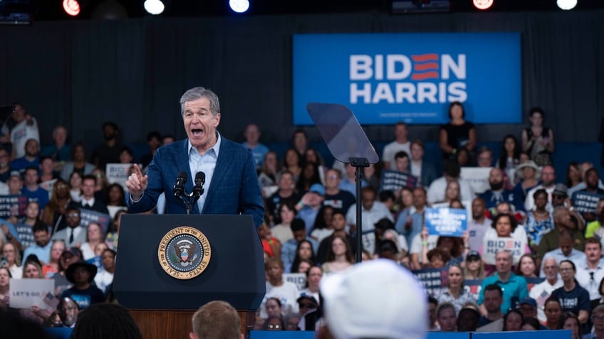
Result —
POLYGON ((461 208, 426 208, 429 235, 461 237, 468 227, 468 214, 461 208))

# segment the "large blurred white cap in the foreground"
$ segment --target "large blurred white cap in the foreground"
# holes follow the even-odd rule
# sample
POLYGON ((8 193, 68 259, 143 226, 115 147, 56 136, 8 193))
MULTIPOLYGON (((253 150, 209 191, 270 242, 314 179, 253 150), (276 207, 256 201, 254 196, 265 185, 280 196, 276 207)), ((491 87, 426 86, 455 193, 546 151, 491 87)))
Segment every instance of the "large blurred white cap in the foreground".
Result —
POLYGON ((321 280, 326 326, 319 339, 424 339, 427 296, 405 268, 387 259, 355 264, 321 280))

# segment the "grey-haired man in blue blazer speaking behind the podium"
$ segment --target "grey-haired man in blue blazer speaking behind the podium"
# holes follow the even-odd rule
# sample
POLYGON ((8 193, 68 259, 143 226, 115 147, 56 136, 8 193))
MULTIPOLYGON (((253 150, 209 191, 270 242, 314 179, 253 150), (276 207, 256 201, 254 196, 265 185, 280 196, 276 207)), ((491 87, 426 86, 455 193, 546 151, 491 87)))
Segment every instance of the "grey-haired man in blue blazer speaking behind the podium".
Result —
POLYGON ((216 130, 220 122, 217 95, 194 87, 180 98, 180 109, 188 138, 157 149, 145 175, 135 165, 135 173, 126 181, 128 208, 152 210, 165 193, 166 214, 184 214, 187 192, 192 192, 199 200, 192 204, 191 214, 241 213, 254 217, 259 227, 264 204, 254 157, 216 130))

